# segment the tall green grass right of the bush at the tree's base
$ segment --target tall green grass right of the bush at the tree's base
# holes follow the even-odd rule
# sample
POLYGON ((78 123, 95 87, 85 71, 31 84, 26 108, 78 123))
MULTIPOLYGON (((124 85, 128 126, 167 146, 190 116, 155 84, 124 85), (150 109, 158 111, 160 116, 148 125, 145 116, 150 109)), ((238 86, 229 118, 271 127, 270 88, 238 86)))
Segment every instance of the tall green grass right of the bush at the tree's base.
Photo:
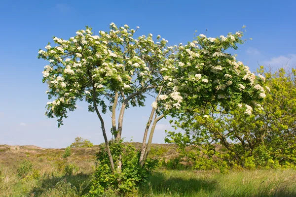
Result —
POLYGON ((296 197, 296 170, 159 170, 140 189, 147 197, 296 197))

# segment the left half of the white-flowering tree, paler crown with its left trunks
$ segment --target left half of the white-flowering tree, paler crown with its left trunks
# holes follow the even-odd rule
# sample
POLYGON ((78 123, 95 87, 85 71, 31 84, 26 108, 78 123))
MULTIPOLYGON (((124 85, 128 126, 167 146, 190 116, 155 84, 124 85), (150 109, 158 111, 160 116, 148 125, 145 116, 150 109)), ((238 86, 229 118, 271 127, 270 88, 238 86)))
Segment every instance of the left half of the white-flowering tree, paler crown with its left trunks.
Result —
MULTIPOLYGON (((137 30, 139 27, 137 27, 137 30)), ((57 46, 48 43, 46 51, 39 50, 38 58, 49 61, 44 67, 43 82, 47 82, 48 99, 46 116, 57 117, 59 127, 67 110, 73 111, 77 100, 89 103, 89 111, 96 112, 106 143, 111 168, 114 162, 106 135, 102 113, 112 112, 112 134, 120 141, 125 109, 144 106, 146 93, 157 88, 162 81, 162 66, 168 65, 167 40, 155 40, 152 34, 134 39, 136 30, 127 25, 117 28, 110 24, 110 32, 94 35, 91 28, 76 32, 68 40, 54 37, 57 46), (101 106, 99 109, 98 106, 101 106), (120 106, 116 126, 116 107, 120 106)), ((121 162, 118 161, 118 169, 121 162)))

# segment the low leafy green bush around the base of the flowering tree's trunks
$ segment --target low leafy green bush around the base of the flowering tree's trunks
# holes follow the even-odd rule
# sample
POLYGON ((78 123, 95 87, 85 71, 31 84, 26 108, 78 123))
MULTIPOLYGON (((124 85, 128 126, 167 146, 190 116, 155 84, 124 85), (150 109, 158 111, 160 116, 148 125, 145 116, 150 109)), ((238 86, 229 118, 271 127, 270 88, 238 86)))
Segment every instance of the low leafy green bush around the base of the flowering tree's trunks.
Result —
MULTIPOLYGON (((96 197, 106 192, 116 195, 136 194, 139 185, 146 181, 150 172, 157 164, 157 160, 148 160, 143 168, 138 165, 140 153, 132 145, 110 143, 111 154, 114 161, 121 157, 121 169, 112 173, 110 161, 105 146, 100 146, 97 154, 96 172, 92 178, 89 197, 96 197)), ((118 164, 117 164, 118 165, 118 164)))

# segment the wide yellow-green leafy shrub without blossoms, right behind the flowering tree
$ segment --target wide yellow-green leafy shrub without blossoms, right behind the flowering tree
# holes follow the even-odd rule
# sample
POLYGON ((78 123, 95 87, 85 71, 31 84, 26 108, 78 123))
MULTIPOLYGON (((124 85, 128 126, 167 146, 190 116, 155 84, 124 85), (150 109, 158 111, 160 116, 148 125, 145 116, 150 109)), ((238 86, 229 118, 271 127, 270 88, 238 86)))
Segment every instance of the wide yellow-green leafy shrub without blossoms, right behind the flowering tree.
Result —
POLYGON ((230 111, 221 105, 192 108, 174 122, 185 133, 169 131, 166 142, 176 143, 196 169, 220 169, 225 163, 249 169, 295 167, 296 70, 272 72, 261 66, 258 73, 264 101, 254 102, 253 108, 229 103, 230 111), (213 144, 222 147, 213 149, 213 144), (193 154, 186 148, 190 145, 195 146, 193 154))

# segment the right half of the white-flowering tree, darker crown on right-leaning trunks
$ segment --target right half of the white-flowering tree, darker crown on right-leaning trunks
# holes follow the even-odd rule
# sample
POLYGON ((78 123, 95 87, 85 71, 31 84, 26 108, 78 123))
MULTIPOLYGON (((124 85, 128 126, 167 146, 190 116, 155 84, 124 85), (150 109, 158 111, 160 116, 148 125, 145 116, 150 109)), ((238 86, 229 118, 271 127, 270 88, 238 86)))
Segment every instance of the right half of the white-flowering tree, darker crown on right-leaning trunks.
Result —
MULTIPOLYGON (((192 126, 196 118, 209 118, 207 110, 210 109, 227 114, 231 108, 240 107, 247 116, 251 115, 256 101, 265 98, 264 88, 258 84, 264 77, 255 76, 248 66, 225 52, 229 48, 236 50, 237 44, 243 43, 242 35, 242 32, 237 32, 228 33, 226 37, 207 38, 200 34, 185 46, 175 46, 177 53, 171 58, 174 66, 163 68, 163 82, 152 103, 153 109, 144 133, 141 165, 150 151, 156 123, 166 115, 192 126), (153 114, 155 117, 146 145, 153 114)), ((177 126, 185 129, 181 124, 177 126)))

